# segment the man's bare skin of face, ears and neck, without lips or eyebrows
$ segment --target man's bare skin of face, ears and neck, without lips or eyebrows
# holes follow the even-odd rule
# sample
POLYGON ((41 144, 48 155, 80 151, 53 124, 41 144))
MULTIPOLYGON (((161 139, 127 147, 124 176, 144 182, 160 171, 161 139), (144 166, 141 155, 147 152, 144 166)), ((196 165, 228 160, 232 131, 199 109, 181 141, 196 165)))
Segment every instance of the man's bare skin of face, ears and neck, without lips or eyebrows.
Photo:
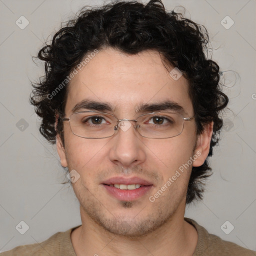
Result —
MULTIPOLYGON (((172 68, 169 67, 169 70, 172 68)), ((168 71, 169 71, 168 70, 168 71)), ((100 50, 70 81, 65 116, 83 99, 108 102, 119 119, 135 119, 139 103, 171 99, 193 116, 188 82, 172 79, 159 53, 127 55, 100 50)), ((84 109, 86 110, 86 109, 84 109)), ((178 136, 149 139, 131 127, 109 138, 75 136, 64 122, 63 147, 57 136, 61 165, 75 169, 80 178, 72 183, 80 203, 82 225, 71 233, 77 255, 192 255, 196 229, 184 221, 185 196, 192 165, 200 166, 209 152, 212 123, 196 135, 194 120, 185 121, 178 136), (180 165, 196 152, 200 156, 154 201, 156 193, 180 165), (102 181, 113 176, 139 176, 153 186, 133 201, 120 201, 106 192, 102 181), (171 254, 170 254, 171 253, 171 254)))

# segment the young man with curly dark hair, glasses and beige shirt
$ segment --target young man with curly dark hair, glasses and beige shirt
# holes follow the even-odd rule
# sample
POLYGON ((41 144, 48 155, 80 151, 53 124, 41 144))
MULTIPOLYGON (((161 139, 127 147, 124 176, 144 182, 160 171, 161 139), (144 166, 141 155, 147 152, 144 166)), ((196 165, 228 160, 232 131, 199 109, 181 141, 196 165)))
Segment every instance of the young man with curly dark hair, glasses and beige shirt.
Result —
POLYGON ((1 255, 256 255, 184 218, 228 102, 206 43, 160 0, 83 9, 54 35, 31 103, 82 224, 1 255))

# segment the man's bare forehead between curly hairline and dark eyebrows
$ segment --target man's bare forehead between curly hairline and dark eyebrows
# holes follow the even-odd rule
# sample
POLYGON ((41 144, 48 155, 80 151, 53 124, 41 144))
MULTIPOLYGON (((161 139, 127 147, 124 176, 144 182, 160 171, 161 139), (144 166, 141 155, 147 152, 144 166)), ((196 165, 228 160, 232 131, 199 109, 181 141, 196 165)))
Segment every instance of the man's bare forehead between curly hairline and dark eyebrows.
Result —
POLYGON ((174 80, 156 51, 128 55, 107 48, 99 51, 68 85, 65 113, 77 103, 93 100, 112 106, 116 114, 136 112, 144 104, 171 101, 193 114, 188 82, 174 80))

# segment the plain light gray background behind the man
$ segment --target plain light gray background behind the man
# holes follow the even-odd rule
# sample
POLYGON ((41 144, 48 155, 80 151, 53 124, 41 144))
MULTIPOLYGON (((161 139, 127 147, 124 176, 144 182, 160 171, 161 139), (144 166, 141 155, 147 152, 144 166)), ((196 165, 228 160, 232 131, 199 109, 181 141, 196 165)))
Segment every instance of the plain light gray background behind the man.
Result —
MULTIPOLYGON (((31 56, 79 7, 102 2, 0 0, 0 251, 41 242, 80 224, 72 188, 60 184, 66 177, 55 146, 39 134, 40 120, 28 102, 29 79, 34 81, 43 74, 42 64, 36 66, 31 56), (24 29, 15 24, 21 15, 29 21, 24 29), (15 229, 21 220, 29 226, 23 235, 15 229)), ((184 6, 186 17, 206 26, 216 49, 212 58, 226 71, 224 92, 230 99, 230 110, 223 113, 221 140, 210 159, 214 174, 207 181, 203 201, 189 205, 185 216, 225 240, 255 250, 256 1, 163 3, 167 9, 184 6), (226 15, 234 21, 229 29, 220 22, 226 15), (234 226, 229 234, 220 228, 226 220, 234 226)), ((222 22, 230 25, 228 19, 222 22)))

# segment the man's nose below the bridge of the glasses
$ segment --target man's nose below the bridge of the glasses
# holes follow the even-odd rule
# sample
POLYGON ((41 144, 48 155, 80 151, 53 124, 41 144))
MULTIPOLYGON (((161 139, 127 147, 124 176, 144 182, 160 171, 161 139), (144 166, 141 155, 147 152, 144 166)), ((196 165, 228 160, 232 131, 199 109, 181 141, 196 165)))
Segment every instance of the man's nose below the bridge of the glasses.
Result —
POLYGON ((120 166, 132 167, 145 160, 144 144, 135 129, 136 122, 120 121, 111 139, 110 160, 120 166))

